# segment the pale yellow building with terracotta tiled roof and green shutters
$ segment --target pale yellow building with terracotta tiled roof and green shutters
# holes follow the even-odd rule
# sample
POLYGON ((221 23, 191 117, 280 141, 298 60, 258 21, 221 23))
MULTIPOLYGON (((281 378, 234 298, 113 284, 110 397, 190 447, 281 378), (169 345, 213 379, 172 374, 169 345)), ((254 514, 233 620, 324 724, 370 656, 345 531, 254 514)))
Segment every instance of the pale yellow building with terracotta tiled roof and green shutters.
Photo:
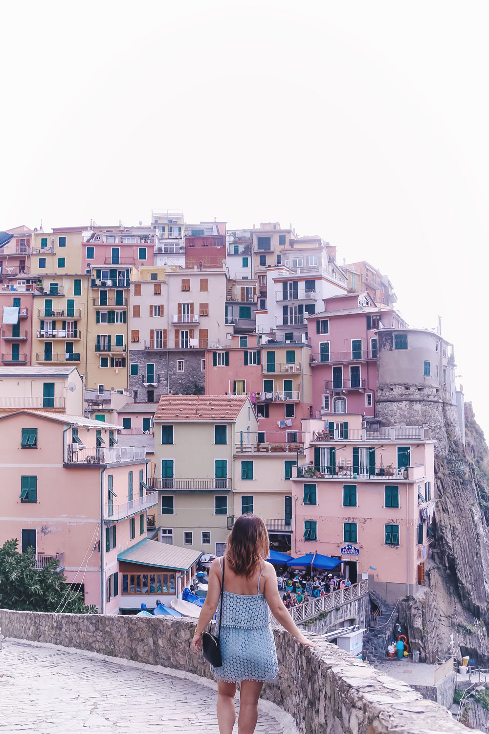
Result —
POLYGON ((222 555, 235 447, 257 433, 246 395, 161 396, 154 418, 155 523, 161 542, 222 555), (244 437, 244 439, 242 438, 244 437))

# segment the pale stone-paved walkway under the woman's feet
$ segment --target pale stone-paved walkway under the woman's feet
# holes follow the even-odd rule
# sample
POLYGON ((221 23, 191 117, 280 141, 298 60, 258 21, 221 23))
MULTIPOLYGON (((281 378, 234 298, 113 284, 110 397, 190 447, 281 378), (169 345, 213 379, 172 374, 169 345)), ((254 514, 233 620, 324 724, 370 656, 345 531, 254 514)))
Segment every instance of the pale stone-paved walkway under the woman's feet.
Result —
MULTIPOLYGON (((0 734, 31 732, 218 734, 216 691, 150 666, 6 639, 0 734)), ((259 714, 256 732, 292 734, 268 713, 259 714)))

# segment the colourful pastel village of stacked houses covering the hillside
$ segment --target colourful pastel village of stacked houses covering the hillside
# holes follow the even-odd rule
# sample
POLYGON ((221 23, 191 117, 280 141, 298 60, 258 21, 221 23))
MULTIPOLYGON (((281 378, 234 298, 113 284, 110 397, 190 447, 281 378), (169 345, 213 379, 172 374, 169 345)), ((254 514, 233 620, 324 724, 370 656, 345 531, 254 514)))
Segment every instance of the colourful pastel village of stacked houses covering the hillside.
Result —
POLYGON ((182 599, 255 512, 285 593, 287 559, 311 556, 329 561, 308 597, 415 595, 434 440, 396 401, 451 405, 463 440, 463 393, 452 344, 396 302, 375 266, 279 222, 0 233, 0 545, 134 614, 182 599))

